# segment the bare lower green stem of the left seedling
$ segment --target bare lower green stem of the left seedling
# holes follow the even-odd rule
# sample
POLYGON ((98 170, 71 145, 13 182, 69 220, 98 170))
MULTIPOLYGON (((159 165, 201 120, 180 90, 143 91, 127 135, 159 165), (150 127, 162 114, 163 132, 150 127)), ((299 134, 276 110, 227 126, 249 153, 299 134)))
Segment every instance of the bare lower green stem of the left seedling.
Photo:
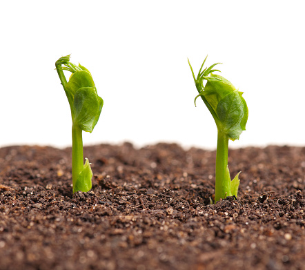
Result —
POLYGON ((72 183, 73 193, 79 173, 83 171, 83 137, 81 128, 72 124, 72 183))

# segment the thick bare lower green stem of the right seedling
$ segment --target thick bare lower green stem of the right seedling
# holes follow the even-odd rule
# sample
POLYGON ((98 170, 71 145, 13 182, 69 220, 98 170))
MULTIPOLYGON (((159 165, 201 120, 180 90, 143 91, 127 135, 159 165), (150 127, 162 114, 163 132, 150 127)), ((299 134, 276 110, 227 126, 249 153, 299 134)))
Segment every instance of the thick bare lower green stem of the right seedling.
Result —
POLYGON ((228 174, 228 135, 218 131, 216 152, 215 202, 231 196, 228 174))

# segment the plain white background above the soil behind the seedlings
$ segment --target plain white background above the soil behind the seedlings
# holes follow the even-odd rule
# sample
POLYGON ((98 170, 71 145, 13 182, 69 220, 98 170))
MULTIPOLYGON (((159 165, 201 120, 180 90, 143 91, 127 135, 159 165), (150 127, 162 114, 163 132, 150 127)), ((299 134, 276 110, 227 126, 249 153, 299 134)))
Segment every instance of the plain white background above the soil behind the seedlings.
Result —
POLYGON ((71 144, 55 61, 92 73, 104 108, 83 143, 215 148, 188 67, 222 62, 249 108, 232 147, 305 145, 304 1, 1 1, 0 146, 71 144))

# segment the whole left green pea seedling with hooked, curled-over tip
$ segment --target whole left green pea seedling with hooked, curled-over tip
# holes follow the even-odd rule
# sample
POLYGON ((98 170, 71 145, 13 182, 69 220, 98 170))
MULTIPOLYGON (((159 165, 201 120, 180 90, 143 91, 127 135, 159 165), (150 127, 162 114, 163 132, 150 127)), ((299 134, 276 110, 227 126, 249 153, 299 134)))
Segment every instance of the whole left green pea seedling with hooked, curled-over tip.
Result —
POLYGON ((83 164, 82 131, 90 133, 93 131, 99 121, 104 102, 97 95, 97 88, 90 71, 81 64, 78 66, 72 64, 70 55, 59 58, 55 66, 71 109, 73 193, 87 192, 92 187, 92 170, 87 158, 83 164), (63 70, 72 73, 68 82, 63 70))

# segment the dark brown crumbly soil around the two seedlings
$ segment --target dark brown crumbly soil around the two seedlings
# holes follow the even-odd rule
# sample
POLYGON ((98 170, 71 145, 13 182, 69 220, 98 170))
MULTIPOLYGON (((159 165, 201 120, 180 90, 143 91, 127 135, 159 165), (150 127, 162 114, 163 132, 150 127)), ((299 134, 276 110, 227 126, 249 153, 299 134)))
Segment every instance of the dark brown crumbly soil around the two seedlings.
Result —
POLYGON ((70 152, 0 148, 1 270, 305 269, 305 148, 230 150, 239 197, 215 205, 215 151, 86 147, 75 195, 70 152))

